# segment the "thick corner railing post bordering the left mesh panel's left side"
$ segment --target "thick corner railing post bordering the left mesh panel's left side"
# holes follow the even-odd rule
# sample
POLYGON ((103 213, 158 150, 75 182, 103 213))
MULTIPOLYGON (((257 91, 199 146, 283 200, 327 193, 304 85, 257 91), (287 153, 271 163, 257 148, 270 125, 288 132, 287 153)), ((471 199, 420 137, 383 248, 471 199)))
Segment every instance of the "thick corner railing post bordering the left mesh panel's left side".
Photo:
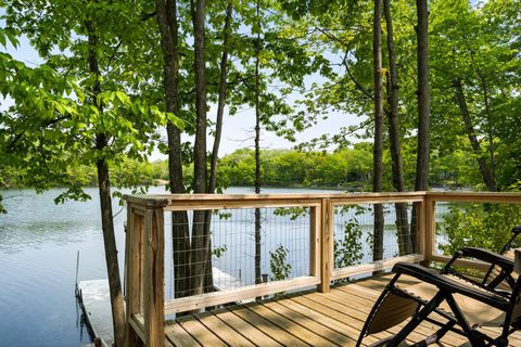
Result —
POLYGON ((165 233, 162 207, 144 215, 144 336, 148 347, 165 345, 165 233))

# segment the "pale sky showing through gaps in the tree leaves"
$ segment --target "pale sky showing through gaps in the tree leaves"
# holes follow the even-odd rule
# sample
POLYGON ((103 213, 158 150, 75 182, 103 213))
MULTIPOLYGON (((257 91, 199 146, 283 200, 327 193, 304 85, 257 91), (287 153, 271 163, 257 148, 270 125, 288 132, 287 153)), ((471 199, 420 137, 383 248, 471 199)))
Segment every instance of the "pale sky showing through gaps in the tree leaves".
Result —
MULTIPOLYGON (((4 23, 0 22, 0 25, 4 23)), ((30 47, 29 41, 25 37, 20 38, 20 46, 17 48, 8 44, 7 49, 1 48, 0 51, 10 53, 14 59, 24 62, 28 66, 37 66, 42 63, 41 57, 30 47)), ((312 83, 314 78, 308 78, 307 82, 312 83)), ((296 95, 298 97, 298 95, 296 95)), ((9 100, 1 101, 1 108, 9 106, 9 100)), ((208 119, 215 120, 216 105, 209 105, 208 119)), ((296 134, 298 143, 309 141, 314 138, 318 138, 323 133, 334 134, 341 127, 356 125, 360 121, 359 118, 353 115, 332 113, 328 119, 320 119, 318 124, 301 133, 296 134)), ((225 112, 223 137, 220 142, 219 156, 232 153, 238 149, 253 147, 254 145, 254 126, 255 126, 255 112, 253 108, 245 108, 239 111, 234 116, 229 116, 225 112)), ((163 137, 166 138, 166 131, 161 130, 163 137)), ((278 137, 275 132, 263 129, 262 130, 262 149, 292 149, 296 143, 292 143, 283 138, 278 137)), ((192 138, 183 134, 182 141, 192 141, 192 138)), ((207 149, 213 146, 213 137, 207 137, 207 149)), ((155 151, 150 160, 166 159, 166 155, 155 151)))

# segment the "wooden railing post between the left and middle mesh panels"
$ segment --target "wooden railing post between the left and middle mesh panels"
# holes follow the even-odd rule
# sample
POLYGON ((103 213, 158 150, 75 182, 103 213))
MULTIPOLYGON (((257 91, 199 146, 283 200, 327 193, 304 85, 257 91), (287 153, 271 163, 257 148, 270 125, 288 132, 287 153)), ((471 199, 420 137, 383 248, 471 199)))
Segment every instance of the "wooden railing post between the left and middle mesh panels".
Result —
POLYGON ((331 286, 331 271, 332 271, 332 221, 334 210, 329 198, 321 201, 321 216, 320 216, 320 284, 318 292, 329 293, 331 286))

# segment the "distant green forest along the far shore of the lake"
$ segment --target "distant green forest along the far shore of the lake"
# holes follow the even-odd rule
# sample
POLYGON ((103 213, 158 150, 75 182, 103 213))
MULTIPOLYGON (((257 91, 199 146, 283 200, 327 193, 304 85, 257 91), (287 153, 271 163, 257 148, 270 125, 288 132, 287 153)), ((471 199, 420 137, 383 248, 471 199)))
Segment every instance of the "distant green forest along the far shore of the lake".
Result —
MULTIPOLYGON (((476 175, 475 159, 457 150, 445 156, 431 156, 429 184, 444 190, 485 190, 476 175)), ((190 165, 183 166, 183 172, 190 172, 190 165)), ((407 190, 414 187, 414 167, 404 167, 409 182, 407 190)), ((114 184, 122 188, 143 188, 161 185, 168 181, 168 162, 137 162, 124 159, 111 165, 114 184)), ((96 187, 96 172, 88 166, 67 168, 68 180, 80 187, 96 187)), ((4 170, 3 179, 8 187, 26 188, 24 170, 4 170)), ((392 191, 391 158, 389 151, 383 152, 384 191, 392 191)), ((281 188, 326 188, 340 191, 370 191, 372 182, 372 144, 359 142, 353 147, 334 152, 301 152, 296 150, 260 150, 260 177, 263 187, 281 188)), ((219 191, 228 187, 253 187, 255 179, 255 158, 252 149, 241 149, 219 158, 217 187, 219 191)))

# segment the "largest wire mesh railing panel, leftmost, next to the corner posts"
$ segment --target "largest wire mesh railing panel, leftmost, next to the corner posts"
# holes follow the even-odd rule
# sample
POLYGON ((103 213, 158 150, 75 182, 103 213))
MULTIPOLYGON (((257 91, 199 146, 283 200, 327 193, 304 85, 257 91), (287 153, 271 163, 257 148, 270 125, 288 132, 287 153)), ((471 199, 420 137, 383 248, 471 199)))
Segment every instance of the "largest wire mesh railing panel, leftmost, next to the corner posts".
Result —
POLYGON ((165 299, 310 274, 310 207, 165 216, 165 299))

